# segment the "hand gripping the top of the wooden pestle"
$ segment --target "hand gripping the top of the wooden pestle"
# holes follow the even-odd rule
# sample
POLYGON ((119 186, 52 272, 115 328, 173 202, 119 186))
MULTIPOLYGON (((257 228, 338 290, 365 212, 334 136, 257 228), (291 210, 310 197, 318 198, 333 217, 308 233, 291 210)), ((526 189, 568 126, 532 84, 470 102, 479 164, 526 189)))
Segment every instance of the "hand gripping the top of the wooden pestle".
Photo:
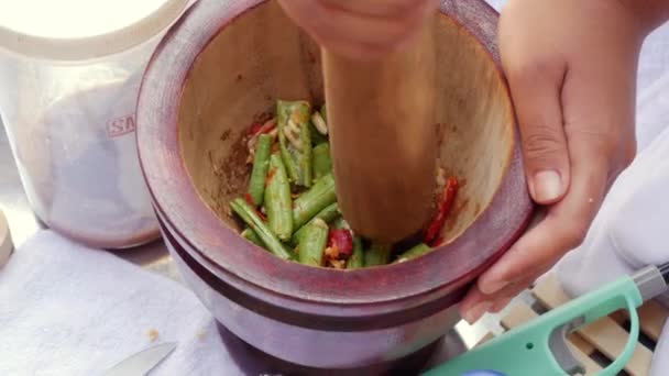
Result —
POLYGON ((284 11, 321 46, 370 59, 413 40, 436 0, 279 0, 284 11))

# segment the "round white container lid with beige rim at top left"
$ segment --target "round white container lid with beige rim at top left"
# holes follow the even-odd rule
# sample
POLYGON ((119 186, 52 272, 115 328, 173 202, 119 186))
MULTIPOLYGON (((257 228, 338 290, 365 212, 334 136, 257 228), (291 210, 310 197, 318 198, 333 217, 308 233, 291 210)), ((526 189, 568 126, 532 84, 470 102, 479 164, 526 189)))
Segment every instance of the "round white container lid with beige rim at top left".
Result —
POLYGON ((97 58, 168 27, 189 0, 0 0, 0 47, 46 59, 97 58))

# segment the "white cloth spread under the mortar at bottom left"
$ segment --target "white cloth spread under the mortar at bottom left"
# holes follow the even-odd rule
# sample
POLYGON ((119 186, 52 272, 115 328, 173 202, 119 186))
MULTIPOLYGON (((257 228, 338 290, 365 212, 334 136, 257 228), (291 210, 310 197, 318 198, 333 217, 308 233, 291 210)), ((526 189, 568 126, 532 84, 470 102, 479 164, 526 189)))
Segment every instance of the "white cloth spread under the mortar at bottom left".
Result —
POLYGON ((178 344, 152 375, 242 374, 176 281, 51 231, 0 268, 0 375, 100 375, 162 341, 178 344))

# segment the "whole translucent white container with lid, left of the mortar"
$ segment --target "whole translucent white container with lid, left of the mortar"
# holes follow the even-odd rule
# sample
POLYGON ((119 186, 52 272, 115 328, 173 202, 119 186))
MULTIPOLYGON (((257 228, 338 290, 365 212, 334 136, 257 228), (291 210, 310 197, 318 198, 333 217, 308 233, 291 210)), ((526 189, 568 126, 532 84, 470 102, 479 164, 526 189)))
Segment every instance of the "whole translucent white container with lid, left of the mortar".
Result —
POLYGON ((105 248, 160 236, 134 112, 151 54, 188 3, 0 0, 0 114, 46 225, 105 248))

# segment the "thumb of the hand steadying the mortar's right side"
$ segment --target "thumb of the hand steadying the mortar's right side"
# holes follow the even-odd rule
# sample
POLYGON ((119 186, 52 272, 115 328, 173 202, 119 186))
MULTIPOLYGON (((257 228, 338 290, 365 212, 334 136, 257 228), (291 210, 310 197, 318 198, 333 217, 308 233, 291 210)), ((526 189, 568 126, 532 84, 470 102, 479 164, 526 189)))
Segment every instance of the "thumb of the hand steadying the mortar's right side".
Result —
POLYGON ((570 176, 560 104, 564 70, 559 66, 538 65, 507 76, 518 117, 529 192, 538 203, 553 203, 567 192, 570 176))

